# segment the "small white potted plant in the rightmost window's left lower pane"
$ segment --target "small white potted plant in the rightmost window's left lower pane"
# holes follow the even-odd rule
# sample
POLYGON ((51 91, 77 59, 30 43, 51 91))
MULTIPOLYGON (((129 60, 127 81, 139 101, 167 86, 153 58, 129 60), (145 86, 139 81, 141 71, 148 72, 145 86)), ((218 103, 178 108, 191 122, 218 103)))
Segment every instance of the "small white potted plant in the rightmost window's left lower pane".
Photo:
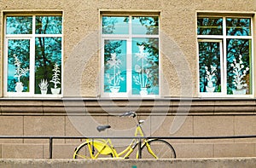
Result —
POLYGON ((211 69, 208 70, 208 67, 206 66, 205 69, 206 69, 206 72, 207 72, 207 75, 206 75, 206 78, 207 78, 207 86, 206 86, 206 89, 207 89, 207 92, 214 92, 215 90, 215 86, 214 84, 216 83, 216 71, 217 71, 217 67, 216 66, 210 66, 211 69))

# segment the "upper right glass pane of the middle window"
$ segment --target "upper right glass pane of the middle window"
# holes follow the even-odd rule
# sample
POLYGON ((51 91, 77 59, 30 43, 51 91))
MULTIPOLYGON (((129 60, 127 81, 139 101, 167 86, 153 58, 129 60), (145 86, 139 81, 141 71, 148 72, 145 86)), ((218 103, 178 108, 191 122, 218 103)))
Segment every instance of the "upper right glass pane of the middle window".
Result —
POLYGON ((159 34, 158 16, 132 17, 132 34, 159 34))

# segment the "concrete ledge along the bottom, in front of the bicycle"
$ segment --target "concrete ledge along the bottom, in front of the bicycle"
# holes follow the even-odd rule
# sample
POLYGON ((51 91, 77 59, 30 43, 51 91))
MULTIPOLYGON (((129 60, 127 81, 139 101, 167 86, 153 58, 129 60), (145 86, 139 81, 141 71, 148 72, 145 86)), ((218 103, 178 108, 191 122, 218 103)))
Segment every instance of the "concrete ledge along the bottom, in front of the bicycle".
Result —
POLYGON ((254 168, 256 158, 221 158, 221 159, 0 159, 0 167, 4 168, 254 168))

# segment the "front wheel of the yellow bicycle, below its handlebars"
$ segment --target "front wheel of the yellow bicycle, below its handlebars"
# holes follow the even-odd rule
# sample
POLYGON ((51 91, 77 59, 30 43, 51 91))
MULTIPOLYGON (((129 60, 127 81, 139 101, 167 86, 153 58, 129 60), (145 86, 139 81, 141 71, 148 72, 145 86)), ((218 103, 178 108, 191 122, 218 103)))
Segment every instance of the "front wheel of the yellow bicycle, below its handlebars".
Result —
POLYGON ((176 152, 169 142, 161 139, 149 140, 151 150, 156 155, 155 158, 152 154, 148 152, 147 145, 144 144, 142 147, 142 158, 143 159, 172 159, 176 158, 176 152))

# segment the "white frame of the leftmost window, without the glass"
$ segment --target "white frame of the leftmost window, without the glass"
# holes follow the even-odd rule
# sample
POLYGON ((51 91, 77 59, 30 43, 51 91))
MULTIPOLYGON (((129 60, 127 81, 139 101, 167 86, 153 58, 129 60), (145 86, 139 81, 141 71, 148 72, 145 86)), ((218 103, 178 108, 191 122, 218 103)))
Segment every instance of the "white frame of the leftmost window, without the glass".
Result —
MULTIPOLYGON (((36 16, 62 16, 62 14, 40 13, 40 14, 4 14, 4 59, 3 59, 3 96, 4 97, 62 97, 63 96, 63 16, 62 16, 62 33, 61 34, 36 34, 36 16), (32 34, 6 34, 6 19, 8 16, 32 16, 32 34), (35 94, 35 39, 43 38, 61 38, 61 94, 59 95, 42 95, 35 94), (30 40, 30 65, 29 65, 29 92, 8 92, 8 40, 11 39, 29 39, 30 40)), ((48 89, 49 90, 49 89, 48 89)))

